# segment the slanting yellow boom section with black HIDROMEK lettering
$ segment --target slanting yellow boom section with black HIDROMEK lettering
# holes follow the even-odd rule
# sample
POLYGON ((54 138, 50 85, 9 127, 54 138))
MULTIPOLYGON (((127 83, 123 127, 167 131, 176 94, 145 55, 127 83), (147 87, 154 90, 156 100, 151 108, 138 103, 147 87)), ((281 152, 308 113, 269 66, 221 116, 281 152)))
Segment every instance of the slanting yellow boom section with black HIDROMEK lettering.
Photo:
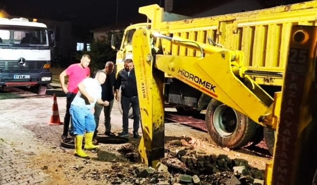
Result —
POLYGON ((262 124, 259 117, 267 114, 270 105, 265 103, 272 103, 272 98, 262 90, 266 97, 260 99, 243 84, 233 74, 231 57, 227 51, 204 58, 157 55, 155 67, 262 124))

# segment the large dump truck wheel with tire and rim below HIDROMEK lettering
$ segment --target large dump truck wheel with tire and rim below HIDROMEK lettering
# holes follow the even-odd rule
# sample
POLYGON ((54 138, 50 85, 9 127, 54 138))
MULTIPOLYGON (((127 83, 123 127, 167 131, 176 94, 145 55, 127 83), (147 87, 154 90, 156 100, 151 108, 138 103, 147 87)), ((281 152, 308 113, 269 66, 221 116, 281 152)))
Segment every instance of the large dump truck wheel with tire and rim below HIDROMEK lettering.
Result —
POLYGON ((246 115, 212 99, 206 111, 207 130, 211 139, 221 147, 240 148, 256 133, 257 124, 246 115))

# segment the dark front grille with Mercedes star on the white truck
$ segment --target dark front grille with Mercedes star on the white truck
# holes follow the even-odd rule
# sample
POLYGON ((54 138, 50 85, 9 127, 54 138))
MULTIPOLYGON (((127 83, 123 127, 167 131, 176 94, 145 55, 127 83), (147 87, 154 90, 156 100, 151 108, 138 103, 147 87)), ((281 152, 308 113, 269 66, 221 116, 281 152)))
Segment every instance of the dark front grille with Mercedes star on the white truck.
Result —
POLYGON ((47 61, 26 61, 24 66, 19 66, 17 61, 0 61, 0 72, 9 71, 40 71, 47 61))

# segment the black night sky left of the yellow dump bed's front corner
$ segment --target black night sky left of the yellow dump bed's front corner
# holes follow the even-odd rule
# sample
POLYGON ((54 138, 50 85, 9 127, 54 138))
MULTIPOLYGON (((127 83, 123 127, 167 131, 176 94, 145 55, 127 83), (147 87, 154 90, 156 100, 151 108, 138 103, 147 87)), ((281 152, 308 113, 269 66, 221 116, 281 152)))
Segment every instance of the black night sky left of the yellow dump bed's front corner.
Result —
POLYGON ((138 7, 159 4, 163 0, 0 0, 0 7, 15 17, 72 21, 75 25, 98 28, 145 22, 138 7))

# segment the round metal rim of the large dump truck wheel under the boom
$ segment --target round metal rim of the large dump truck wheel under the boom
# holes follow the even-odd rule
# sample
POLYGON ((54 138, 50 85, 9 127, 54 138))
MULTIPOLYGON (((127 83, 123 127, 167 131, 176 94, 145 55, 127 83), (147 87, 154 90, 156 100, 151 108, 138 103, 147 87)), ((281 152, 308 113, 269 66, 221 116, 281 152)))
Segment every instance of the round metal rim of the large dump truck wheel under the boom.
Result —
POLYGON ((221 136, 229 136, 236 130, 237 114, 224 104, 214 110, 212 120, 215 130, 221 136))

